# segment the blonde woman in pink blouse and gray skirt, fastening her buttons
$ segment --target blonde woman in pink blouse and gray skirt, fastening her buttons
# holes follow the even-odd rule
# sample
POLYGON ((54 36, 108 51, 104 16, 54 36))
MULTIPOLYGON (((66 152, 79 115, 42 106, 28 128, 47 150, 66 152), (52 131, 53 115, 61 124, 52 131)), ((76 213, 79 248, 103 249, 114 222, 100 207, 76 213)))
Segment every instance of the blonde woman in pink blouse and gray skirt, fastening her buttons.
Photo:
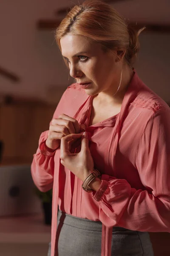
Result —
POLYGON ((57 29, 76 83, 31 166, 53 188, 51 256, 152 256, 147 232, 170 232, 170 109, 133 69, 138 35, 99 1, 57 29))

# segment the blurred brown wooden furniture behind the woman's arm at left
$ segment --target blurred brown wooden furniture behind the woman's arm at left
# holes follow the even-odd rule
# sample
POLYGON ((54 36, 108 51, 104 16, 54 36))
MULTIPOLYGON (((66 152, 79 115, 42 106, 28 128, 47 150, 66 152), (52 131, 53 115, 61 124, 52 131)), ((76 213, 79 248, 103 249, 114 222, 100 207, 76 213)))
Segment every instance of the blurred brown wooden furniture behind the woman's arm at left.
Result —
POLYGON ((55 109, 36 102, 0 106, 0 140, 4 144, 1 166, 32 163, 40 134, 49 129, 55 109))

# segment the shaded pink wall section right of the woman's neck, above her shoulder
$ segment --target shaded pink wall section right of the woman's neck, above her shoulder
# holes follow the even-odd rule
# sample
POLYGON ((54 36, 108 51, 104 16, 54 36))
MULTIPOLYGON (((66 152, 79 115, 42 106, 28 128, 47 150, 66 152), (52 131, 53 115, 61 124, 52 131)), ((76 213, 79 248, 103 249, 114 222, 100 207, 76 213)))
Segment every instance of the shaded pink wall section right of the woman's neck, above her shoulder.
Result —
POLYGON ((145 84, 170 103, 170 33, 143 33, 136 70, 145 84))

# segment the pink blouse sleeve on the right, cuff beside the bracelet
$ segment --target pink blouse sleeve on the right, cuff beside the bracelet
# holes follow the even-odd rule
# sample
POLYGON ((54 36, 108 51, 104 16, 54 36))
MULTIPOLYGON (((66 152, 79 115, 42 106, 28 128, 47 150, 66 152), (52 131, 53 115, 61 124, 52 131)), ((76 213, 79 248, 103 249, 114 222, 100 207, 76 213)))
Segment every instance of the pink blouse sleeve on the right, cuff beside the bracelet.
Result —
POLYGON ((146 190, 131 188, 127 180, 102 175, 93 198, 99 218, 108 227, 170 232, 170 111, 153 113, 135 156, 136 169, 146 190))

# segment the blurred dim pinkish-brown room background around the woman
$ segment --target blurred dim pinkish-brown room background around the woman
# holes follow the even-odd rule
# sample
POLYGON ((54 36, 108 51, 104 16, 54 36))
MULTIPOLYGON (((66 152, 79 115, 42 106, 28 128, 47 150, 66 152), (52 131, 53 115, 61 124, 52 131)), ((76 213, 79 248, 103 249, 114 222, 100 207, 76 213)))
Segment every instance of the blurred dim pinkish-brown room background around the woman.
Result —
MULTIPOLYGON (((0 0, 0 256, 47 256, 51 194, 34 188, 30 165, 42 131, 73 82, 54 40, 82 0, 0 0), (46 218, 45 218, 46 216, 46 218)), ((105 0, 136 29, 140 78, 170 105, 170 0, 105 0)), ((169 233, 150 233, 169 256, 169 233)))

